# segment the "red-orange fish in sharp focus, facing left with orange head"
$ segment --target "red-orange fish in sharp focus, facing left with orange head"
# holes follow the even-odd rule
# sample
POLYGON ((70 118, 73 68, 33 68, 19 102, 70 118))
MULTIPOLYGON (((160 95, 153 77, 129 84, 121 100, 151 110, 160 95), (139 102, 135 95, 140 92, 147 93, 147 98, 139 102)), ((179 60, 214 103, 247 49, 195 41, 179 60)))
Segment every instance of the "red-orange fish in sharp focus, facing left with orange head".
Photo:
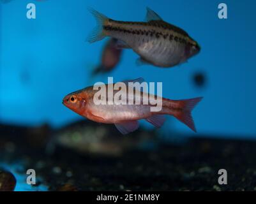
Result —
MULTIPOLYGON (((142 78, 129 82, 141 81, 142 78)), ((128 81, 126 81, 125 84, 128 84, 128 81)), ((113 84, 107 84, 107 89, 109 85, 113 84)), ((122 89, 117 91, 114 90, 113 94, 116 94, 119 91, 122 91, 122 89)), ((130 97, 130 94, 134 95, 133 90, 132 92, 127 90, 123 91, 126 91, 126 94, 128 96, 127 100, 130 97)), ((157 128, 160 128, 165 122, 165 118, 163 117, 163 115, 173 115, 174 117, 176 117, 176 119, 180 120, 181 122, 186 124, 186 126, 196 132, 191 112, 194 106, 197 105, 197 103, 199 103, 202 98, 184 100, 161 98, 162 109, 159 112, 151 112, 151 108, 153 106, 155 107, 155 105, 151 105, 150 103, 148 103, 147 105, 144 105, 144 103, 141 103, 139 105, 135 103, 126 103, 125 105, 117 105, 115 103, 96 105, 94 101, 94 95, 96 94, 96 92, 98 92, 98 90, 94 90, 93 86, 72 92, 71 94, 68 94, 64 97, 63 104, 74 112, 78 113, 79 115, 86 117, 87 119, 105 124, 115 124, 116 128, 124 135, 139 128, 138 120, 140 119, 146 119, 147 122, 150 122, 157 128)), ((139 96, 141 102, 143 100, 143 97, 145 96, 156 97, 146 92, 135 92, 139 93, 135 94, 135 96, 139 96)))

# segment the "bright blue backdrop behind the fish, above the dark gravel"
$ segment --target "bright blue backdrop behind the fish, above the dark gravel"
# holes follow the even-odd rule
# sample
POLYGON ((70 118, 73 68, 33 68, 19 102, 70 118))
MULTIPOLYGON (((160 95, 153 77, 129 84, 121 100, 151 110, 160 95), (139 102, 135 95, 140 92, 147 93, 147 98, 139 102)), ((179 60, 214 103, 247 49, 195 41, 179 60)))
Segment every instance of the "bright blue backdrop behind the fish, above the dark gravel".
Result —
MULTIPOLYGON (((144 77, 163 82, 163 96, 204 96, 193 111, 200 134, 256 138, 256 1, 10 1, 0 3, 0 122, 60 127, 80 116, 61 104, 63 97, 94 82, 144 77), (36 19, 26 18, 27 3, 36 4, 36 19), (226 3, 228 19, 218 18, 226 3), (109 75, 89 78, 106 41, 86 42, 96 22, 90 6, 116 20, 142 21, 146 6, 178 25, 202 47, 188 63, 170 69, 136 66, 137 54, 124 50, 109 75), (195 72, 207 84, 193 84, 195 72)), ((151 127, 151 126, 147 126, 151 127)), ((163 129, 192 133, 168 117, 163 129)))

